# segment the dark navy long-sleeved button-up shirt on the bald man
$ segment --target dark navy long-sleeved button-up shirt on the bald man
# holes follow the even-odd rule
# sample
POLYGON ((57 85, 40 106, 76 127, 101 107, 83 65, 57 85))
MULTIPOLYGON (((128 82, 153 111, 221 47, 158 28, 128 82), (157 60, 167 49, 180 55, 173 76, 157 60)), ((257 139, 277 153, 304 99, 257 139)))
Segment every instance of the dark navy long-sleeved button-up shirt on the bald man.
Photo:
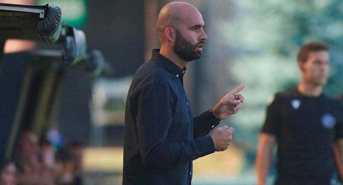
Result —
POLYGON ((123 185, 189 185, 192 161, 215 151, 210 111, 193 117, 183 87, 186 67, 152 51, 126 101, 123 185))

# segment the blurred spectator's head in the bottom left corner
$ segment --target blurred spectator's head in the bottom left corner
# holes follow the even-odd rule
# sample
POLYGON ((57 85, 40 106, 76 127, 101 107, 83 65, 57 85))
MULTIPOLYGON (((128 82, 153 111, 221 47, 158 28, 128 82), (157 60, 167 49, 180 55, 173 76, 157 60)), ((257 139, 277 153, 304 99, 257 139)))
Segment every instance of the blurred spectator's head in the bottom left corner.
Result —
POLYGON ((1 185, 16 185, 16 167, 13 161, 7 161, 1 168, 0 184, 1 185))

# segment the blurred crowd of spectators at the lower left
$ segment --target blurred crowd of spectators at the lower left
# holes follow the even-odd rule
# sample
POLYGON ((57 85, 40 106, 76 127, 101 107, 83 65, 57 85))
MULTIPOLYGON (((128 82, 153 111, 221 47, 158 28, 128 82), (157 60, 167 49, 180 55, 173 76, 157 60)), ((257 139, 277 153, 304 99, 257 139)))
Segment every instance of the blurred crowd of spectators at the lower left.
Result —
MULTIPOLYGON (((50 134, 50 135, 49 135, 50 134)), ((33 131, 24 131, 17 142, 15 157, 1 167, 1 185, 80 185, 82 183, 83 146, 66 146, 53 138, 39 139, 33 131), (54 145, 55 144, 55 145, 54 145)))

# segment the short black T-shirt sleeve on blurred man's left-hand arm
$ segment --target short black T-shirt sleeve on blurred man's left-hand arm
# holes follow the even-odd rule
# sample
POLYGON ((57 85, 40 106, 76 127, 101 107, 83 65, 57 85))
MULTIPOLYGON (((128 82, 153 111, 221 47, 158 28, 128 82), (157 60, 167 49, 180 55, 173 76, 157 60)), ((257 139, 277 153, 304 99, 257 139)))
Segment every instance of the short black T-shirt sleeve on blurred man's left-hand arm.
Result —
POLYGON ((267 115, 261 132, 271 135, 277 135, 280 132, 280 104, 276 96, 267 107, 267 115))

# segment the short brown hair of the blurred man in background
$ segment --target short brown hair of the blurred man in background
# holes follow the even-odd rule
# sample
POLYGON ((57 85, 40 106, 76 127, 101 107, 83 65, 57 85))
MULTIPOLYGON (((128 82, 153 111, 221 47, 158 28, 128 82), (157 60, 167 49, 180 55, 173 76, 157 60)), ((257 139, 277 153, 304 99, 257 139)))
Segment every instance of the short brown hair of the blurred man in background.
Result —
POLYGON ((329 51, 329 46, 325 42, 310 42, 303 45, 297 55, 297 61, 305 63, 308 59, 308 53, 311 51, 329 51))

